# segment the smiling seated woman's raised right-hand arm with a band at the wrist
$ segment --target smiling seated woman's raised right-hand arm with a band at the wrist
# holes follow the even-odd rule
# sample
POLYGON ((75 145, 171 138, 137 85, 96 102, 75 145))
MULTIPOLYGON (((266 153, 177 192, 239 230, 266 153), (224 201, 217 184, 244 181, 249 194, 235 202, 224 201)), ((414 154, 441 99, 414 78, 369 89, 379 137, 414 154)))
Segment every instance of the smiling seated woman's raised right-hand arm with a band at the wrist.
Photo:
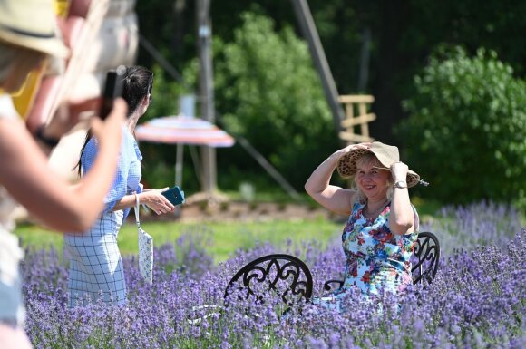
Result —
MULTIPOLYGON (((395 162, 391 166, 391 174, 395 183, 397 181, 405 181, 407 177, 407 165, 403 162, 395 162)), ((405 188, 395 187, 393 190, 389 228, 395 234, 407 234, 414 230, 414 210, 409 199, 409 190, 407 186, 405 186, 405 188)))

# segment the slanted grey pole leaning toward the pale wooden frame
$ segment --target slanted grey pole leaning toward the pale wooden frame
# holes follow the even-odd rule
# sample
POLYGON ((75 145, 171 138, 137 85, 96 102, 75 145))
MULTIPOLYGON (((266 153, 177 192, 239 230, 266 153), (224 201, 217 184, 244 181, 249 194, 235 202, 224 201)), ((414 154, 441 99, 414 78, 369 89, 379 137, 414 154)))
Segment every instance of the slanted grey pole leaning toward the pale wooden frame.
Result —
POLYGON ((317 73, 319 73, 319 77, 323 85, 326 101, 333 112, 336 134, 339 134, 339 132, 342 131, 342 126, 340 123, 345 119, 345 114, 338 102, 336 84, 329 65, 326 62, 325 52, 323 51, 323 46, 317 34, 316 24, 312 19, 307 0, 291 1, 292 5, 294 5, 294 10, 296 11, 297 21, 299 22, 299 26, 301 27, 303 35, 307 40, 310 54, 312 55, 314 63, 317 67, 317 73))

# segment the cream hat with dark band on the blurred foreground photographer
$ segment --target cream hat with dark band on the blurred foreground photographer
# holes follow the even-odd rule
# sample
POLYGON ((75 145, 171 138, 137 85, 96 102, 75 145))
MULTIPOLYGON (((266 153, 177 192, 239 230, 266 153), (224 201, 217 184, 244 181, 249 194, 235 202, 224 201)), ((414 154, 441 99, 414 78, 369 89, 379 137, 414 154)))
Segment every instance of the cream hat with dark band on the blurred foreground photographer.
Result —
POLYGON ((67 57, 69 50, 55 27, 51 0, 0 0, 0 42, 67 57))

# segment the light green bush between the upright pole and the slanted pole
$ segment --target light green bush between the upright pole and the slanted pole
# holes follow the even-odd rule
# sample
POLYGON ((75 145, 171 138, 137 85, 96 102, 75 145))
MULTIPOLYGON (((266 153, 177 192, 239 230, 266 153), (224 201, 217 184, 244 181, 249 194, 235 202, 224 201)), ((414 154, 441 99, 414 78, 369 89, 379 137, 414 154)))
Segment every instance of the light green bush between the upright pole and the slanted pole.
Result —
MULTIPOLYGON (((291 28, 244 13, 234 41, 216 62, 216 105, 227 131, 239 134, 288 180, 303 185, 317 160, 337 147, 333 121, 307 44, 291 28)), ((239 166, 252 165, 246 153, 239 166)))

